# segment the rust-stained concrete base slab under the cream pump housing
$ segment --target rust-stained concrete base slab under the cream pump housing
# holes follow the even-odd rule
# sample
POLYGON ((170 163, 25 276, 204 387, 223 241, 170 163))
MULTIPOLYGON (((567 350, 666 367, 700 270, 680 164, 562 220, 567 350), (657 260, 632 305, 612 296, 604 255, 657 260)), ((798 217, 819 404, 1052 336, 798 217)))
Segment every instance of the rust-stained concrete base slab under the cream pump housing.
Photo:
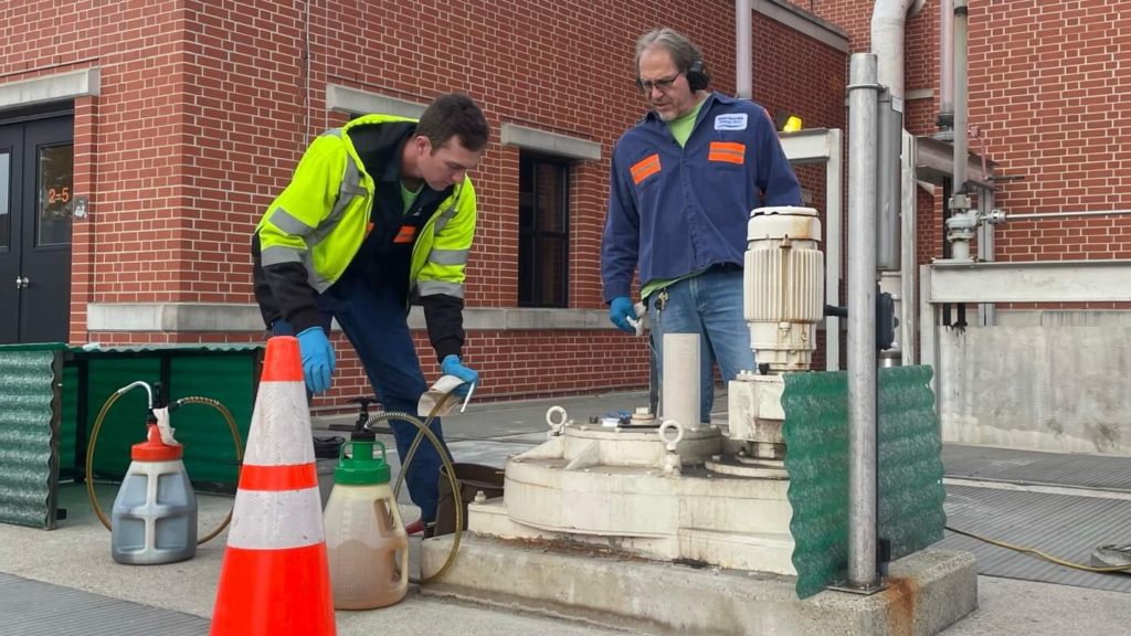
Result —
MULTIPOLYGON (((451 539, 422 543, 423 576, 443 565, 451 539)), ((977 607, 977 566, 968 552, 923 550, 893 561, 879 593, 802 601, 793 577, 465 533, 452 567, 422 593, 657 634, 929 636, 977 607)))

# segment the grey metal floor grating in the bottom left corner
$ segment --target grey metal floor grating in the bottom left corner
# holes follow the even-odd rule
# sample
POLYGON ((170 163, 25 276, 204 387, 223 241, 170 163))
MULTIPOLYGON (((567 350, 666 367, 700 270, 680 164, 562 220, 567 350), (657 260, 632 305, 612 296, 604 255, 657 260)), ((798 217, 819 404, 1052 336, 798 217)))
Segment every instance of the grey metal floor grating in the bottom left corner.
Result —
POLYGON ((0 574, 0 634, 205 636, 208 620, 0 574))

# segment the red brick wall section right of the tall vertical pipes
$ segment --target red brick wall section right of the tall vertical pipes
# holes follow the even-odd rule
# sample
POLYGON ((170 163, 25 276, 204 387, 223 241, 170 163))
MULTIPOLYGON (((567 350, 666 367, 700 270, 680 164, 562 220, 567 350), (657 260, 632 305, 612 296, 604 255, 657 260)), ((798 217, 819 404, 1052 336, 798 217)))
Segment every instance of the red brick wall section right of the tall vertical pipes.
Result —
MULTIPOLYGON (((1011 213, 1131 208, 1131 35, 1126 2, 1102 0, 974 7, 970 122, 1001 172, 1011 213)), ((972 144, 976 147, 976 144, 972 144)), ((1126 258, 1131 217, 1011 222, 1007 260, 1126 258)))

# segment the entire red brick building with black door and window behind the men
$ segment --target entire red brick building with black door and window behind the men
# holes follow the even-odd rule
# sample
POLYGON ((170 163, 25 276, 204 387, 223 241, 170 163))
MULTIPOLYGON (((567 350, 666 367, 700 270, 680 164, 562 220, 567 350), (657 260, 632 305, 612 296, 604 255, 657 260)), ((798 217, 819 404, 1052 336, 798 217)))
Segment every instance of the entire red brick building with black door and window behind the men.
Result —
MULTIPOLYGON (((1131 207, 1119 135, 1131 115, 1117 105, 1131 84, 1117 72, 1131 62, 1116 19, 1128 5, 972 2, 970 122, 984 139, 972 149, 1028 177, 1002 186, 1004 205, 1131 207)), ((872 2, 756 0, 753 11, 753 98, 806 128, 844 129, 848 55, 869 49, 872 2)), ((930 0, 907 23, 906 127, 916 135, 934 131, 938 17, 930 0)), ((309 140, 352 114, 418 113, 458 91, 493 127, 473 174, 466 354, 484 378, 476 395, 640 387, 646 349, 605 317, 598 249, 611 148, 644 112, 633 44, 657 26, 688 33, 714 87, 734 93, 735 6, 722 0, 9 0, 0 342, 261 340, 249 237, 309 140)), ((798 174, 822 208, 823 171, 798 174)), ((918 200, 925 261, 939 255, 941 197, 918 200)), ((1110 258, 1129 241, 1131 223, 1114 217, 1019 224, 999 247, 1004 258, 1110 258)), ((337 337, 326 404, 369 390, 337 337)))

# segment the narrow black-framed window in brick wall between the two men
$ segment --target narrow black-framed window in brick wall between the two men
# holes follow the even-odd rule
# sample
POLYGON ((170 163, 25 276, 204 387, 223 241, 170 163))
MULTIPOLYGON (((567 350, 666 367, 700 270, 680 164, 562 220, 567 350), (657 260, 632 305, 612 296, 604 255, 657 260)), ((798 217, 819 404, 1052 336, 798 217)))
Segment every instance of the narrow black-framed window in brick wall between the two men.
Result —
POLYGON ((519 153, 518 304, 569 304, 569 162, 519 153))

